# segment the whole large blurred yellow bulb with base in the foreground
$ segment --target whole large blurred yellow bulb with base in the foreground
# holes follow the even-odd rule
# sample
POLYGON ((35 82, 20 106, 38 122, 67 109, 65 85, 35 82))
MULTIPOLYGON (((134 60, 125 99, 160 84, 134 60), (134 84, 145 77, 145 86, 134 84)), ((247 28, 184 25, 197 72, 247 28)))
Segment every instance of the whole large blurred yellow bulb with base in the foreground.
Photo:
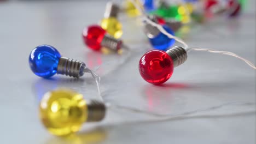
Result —
POLYGON ((73 134, 85 122, 101 121, 106 112, 103 103, 83 99, 83 95, 69 89, 57 89, 44 94, 39 116, 44 127, 53 135, 73 134))

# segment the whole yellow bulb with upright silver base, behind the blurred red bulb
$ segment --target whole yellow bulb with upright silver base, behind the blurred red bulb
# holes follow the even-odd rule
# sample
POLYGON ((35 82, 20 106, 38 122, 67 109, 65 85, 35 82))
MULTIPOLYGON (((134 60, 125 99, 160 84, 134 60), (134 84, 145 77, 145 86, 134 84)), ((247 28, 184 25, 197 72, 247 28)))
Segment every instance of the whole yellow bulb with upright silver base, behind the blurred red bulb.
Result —
POLYGON ((119 7, 118 5, 108 2, 104 13, 104 18, 101 20, 101 27, 114 38, 120 38, 123 34, 122 24, 118 21, 119 7))

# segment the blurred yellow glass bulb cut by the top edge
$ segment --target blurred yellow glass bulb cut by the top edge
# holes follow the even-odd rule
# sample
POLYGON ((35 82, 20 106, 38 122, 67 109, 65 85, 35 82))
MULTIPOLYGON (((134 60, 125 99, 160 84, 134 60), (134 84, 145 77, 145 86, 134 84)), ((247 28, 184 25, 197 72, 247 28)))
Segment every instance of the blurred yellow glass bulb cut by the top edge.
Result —
MULTIPOLYGON (((135 0, 135 2, 137 3, 137 5, 139 5, 141 9, 143 9, 143 6, 139 0, 135 0)), ((129 17, 136 17, 141 15, 141 12, 135 7, 135 5, 130 0, 125 1, 125 12, 129 17)))

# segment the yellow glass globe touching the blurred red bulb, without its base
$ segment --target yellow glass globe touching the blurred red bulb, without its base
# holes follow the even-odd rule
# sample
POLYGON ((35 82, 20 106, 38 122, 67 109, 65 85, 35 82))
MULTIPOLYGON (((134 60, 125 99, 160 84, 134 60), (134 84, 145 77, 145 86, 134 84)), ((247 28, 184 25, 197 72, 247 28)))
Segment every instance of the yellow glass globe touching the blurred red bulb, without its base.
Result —
POLYGON ((122 24, 115 17, 104 18, 101 21, 101 27, 114 38, 120 38, 123 34, 122 24))

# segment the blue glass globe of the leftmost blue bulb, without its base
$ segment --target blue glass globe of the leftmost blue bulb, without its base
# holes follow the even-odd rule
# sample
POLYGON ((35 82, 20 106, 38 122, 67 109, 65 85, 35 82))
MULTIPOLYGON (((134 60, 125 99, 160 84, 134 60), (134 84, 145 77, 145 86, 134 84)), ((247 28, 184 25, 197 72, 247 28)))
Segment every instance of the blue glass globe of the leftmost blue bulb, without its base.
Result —
POLYGON ((39 45, 31 51, 28 62, 34 74, 46 78, 57 73, 60 57, 53 46, 39 45))

